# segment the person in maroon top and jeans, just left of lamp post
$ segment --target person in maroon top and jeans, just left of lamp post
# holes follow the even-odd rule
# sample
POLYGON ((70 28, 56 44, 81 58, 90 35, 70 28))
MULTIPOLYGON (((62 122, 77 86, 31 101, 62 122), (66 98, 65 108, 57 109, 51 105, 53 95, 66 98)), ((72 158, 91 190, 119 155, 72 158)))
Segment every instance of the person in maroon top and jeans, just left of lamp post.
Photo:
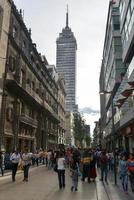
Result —
POLYGON ((108 157, 106 152, 103 151, 100 156, 100 169, 101 169, 101 181, 104 181, 105 175, 105 182, 107 183, 107 174, 108 174, 108 157))

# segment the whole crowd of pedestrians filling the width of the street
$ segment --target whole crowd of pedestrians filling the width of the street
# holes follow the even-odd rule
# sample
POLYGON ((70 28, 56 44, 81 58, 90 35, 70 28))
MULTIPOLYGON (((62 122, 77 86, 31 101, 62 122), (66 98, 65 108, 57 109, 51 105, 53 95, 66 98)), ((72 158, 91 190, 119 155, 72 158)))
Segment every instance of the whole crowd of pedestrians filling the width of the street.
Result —
MULTIPOLYGON (((37 150, 29 152, 25 148, 23 152, 17 150, 10 154, 12 162, 12 181, 16 179, 16 172, 22 169, 24 173, 23 181, 27 182, 29 178, 30 166, 45 165, 48 170, 57 172, 59 189, 64 189, 66 186, 66 173, 68 168, 71 175, 71 191, 78 190, 79 179, 88 183, 94 182, 97 177, 96 169, 100 171, 100 181, 108 184, 109 171, 118 174, 122 188, 125 193, 128 193, 129 182, 131 190, 134 192, 134 153, 128 154, 124 151, 107 152, 99 149, 49 149, 37 150), (116 159, 115 159, 116 157, 116 159), (80 177, 80 178, 79 178, 80 177)), ((4 156, 0 152, 0 170, 4 176, 4 156)))

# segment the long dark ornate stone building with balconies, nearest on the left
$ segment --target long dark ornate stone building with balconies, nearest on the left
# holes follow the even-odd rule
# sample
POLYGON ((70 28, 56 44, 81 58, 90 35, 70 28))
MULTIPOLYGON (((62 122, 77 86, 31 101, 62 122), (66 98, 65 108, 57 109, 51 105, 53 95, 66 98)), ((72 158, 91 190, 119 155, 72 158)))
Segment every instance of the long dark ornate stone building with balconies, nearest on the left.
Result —
POLYGON ((25 146, 30 151, 56 147, 58 86, 13 1, 0 2, 0 57, 5 58, 0 59, 0 148, 10 152, 25 146))

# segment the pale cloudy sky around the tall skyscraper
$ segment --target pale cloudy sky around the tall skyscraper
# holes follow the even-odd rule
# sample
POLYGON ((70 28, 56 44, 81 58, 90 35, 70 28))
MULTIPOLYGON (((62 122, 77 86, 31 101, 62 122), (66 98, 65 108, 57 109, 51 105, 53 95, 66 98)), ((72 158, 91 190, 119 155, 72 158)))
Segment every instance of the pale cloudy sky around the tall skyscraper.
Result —
POLYGON ((99 119, 99 72, 109 0, 14 0, 24 10, 24 21, 32 29, 33 43, 49 64, 56 64, 56 38, 69 26, 77 40, 77 104, 91 130, 99 119))

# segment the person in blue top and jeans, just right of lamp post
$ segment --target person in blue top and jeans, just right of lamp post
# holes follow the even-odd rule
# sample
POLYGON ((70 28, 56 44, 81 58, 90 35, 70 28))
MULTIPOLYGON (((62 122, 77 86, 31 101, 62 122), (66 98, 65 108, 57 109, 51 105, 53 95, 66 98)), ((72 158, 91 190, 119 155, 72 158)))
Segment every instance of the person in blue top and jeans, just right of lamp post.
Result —
POLYGON ((125 156, 122 156, 119 160, 119 176, 122 182, 122 188, 127 193, 128 191, 128 170, 127 160, 125 156))

